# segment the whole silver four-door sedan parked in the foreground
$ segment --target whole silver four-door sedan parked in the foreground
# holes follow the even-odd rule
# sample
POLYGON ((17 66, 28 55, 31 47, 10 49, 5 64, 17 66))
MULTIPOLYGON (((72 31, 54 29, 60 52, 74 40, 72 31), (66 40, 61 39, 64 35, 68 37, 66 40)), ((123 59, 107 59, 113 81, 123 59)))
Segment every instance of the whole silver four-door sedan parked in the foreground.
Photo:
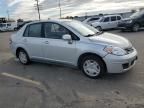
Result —
POLYGON ((31 22, 10 38, 19 61, 45 61, 76 66, 90 78, 131 69, 137 51, 124 37, 102 33, 74 20, 31 22))

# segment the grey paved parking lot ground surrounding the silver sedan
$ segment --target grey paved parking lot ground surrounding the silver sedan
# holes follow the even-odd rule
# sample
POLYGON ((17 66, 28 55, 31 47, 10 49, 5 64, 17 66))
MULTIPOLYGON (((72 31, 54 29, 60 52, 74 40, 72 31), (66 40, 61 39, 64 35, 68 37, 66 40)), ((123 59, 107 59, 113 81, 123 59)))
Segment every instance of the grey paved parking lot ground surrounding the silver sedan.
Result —
POLYGON ((0 33, 0 108, 144 108, 144 31, 108 32, 128 38, 139 60, 129 72, 96 80, 64 66, 23 66, 10 53, 12 33, 0 33))

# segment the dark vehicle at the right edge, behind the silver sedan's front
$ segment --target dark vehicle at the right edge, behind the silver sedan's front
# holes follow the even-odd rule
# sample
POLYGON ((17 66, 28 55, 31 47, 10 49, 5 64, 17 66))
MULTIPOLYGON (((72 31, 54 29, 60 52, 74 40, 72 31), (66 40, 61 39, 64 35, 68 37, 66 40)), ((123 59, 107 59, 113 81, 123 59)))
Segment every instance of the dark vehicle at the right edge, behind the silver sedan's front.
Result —
POLYGON ((132 30, 137 32, 142 27, 144 27, 144 11, 138 11, 131 15, 129 18, 123 19, 118 24, 118 28, 122 31, 132 30))

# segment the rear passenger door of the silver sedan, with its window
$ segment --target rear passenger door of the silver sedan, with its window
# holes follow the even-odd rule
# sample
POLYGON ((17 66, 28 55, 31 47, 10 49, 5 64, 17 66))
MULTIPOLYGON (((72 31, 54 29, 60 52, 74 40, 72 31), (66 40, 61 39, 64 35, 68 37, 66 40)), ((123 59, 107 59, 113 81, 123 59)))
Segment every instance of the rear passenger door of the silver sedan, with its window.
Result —
POLYGON ((29 25, 23 35, 22 43, 31 58, 43 58, 42 23, 29 25))

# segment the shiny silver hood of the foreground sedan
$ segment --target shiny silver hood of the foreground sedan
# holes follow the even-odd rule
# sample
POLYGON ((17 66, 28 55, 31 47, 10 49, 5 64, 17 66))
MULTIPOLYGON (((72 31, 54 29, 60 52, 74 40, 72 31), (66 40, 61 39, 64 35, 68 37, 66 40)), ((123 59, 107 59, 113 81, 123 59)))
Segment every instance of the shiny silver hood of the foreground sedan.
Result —
POLYGON ((89 37, 89 40, 96 44, 112 45, 124 49, 132 47, 128 39, 111 33, 103 33, 98 36, 89 37))

